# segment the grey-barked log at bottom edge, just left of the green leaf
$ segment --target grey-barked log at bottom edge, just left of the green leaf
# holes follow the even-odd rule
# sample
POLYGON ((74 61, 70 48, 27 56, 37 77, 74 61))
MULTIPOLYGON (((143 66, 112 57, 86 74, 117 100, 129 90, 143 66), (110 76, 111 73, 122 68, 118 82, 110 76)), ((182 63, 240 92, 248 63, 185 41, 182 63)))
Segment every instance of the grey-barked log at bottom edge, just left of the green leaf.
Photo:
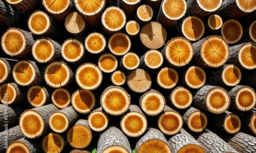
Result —
POLYGON ((115 126, 111 126, 102 133, 97 144, 97 152, 132 152, 129 140, 115 126))

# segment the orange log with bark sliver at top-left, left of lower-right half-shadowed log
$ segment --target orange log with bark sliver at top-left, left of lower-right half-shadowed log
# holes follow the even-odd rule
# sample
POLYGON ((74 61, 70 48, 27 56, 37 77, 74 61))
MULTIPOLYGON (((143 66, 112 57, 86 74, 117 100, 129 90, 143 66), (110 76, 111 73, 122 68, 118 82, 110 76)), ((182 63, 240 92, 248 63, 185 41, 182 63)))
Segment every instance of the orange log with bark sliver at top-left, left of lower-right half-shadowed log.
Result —
POLYGON ((165 105, 163 112, 158 116, 157 124, 162 133, 175 135, 181 130, 183 120, 180 113, 165 105))

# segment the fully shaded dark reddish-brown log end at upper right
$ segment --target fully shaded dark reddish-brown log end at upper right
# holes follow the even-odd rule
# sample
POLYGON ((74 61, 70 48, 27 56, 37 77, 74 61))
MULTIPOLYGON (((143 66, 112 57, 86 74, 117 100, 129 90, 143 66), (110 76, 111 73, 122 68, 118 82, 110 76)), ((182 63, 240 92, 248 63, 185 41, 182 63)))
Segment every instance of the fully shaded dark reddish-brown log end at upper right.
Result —
POLYGON ((243 36, 242 24, 235 19, 226 20, 221 27, 221 35, 227 43, 237 43, 243 36))

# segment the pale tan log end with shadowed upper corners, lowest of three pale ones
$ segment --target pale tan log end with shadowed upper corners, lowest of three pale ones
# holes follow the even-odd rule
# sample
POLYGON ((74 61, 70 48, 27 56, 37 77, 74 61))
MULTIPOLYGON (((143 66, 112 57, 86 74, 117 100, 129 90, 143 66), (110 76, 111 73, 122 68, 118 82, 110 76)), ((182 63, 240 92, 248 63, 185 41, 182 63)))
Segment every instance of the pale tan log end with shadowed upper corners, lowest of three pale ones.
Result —
POLYGON ((127 85, 134 92, 143 93, 150 89, 152 80, 147 71, 137 68, 128 75, 127 85))

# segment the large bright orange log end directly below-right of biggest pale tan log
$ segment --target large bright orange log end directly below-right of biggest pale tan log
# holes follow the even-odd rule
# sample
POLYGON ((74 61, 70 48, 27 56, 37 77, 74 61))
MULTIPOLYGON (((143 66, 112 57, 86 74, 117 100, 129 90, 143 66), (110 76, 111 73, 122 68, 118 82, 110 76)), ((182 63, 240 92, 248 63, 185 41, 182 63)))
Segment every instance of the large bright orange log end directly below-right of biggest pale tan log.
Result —
POLYGON ((168 65, 181 67, 192 60, 194 49, 188 39, 176 37, 165 44, 162 54, 168 65))

